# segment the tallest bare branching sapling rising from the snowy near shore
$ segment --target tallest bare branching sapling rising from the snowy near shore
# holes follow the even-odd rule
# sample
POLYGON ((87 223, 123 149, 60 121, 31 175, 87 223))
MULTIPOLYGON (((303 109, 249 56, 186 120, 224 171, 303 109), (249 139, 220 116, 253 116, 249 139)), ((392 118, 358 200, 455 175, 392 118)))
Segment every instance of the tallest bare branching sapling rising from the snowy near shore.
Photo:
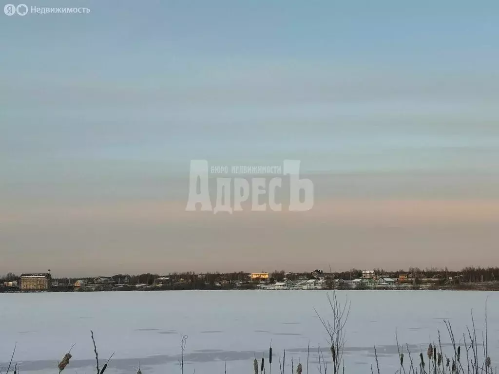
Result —
POLYGON ((345 304, 341 305, 334 291, 332 299, 330 295, 327 295, 327 300, 333 312, 332 321, 322 318, 315 308, 314 310, 322 326, 326 329, 327 335, 329 335, 333 359, 333 374, 339 374, 345 347, 345 324, 348 320, 351 303, 348 301, 348 297, 345 296, 345 304))

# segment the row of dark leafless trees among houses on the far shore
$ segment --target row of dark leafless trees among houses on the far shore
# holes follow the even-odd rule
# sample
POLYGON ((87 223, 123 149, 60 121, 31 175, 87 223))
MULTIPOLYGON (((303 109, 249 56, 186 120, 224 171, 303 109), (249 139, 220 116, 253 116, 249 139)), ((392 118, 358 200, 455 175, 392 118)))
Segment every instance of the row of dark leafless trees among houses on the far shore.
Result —
MULTIPOLYGON (((499 267, 465 267, 460 271, 449 270, 448 268, 426 268, 420 269, 417 267, 411 267, 409 270, 399 269, 397 271, 389 271, 384 269, 373 269, 377 275, 387 275, 392 278, 398 278, 399 274, 412 274, 414 278, 431 278, 434 276, 440 276, 444 279, 450 277, 460 277, 463 282, 491 282, 499 281, 499 267)), ((203 288, 206 285, 213 286, 222 280, 227 280, 229 282, 238 281, 248 281, 248 273, 239 271, 232 273, 204 273, 201 276, 195 272, 180 272, 180 273, 170 273, 170 274, 156 274, 156 273, 143 273, 138 275, 133 274, 116 274, 112 278, 116 283, 125 283, 128 281, 129 284, 148 284, 154 283, 156 278, 160 276, 166 276, 171 278, 171 283, 187 283, 203 288)), ((321 274, 325 279, 341 278, 341 279, 355 279, 362 277, 362 270, 360 269, 350 269, 348 271, 342 272, 324 272, 321 274)), ((296 280, 299 278, 311 278, 311 273, 302 271, 299 273, 286 273, 284 270, 274 270, 269 274, 270 283, 282 281, 284 278, 291 280, 296 280)), ((0 281, 13 281, 19 279, 19 277, 9 272, 0 277, 0 281)), ((59 283, 72 284, 79 279, 84 279, 87 281, 92 281, 93 278, 57 278, 59 283)))

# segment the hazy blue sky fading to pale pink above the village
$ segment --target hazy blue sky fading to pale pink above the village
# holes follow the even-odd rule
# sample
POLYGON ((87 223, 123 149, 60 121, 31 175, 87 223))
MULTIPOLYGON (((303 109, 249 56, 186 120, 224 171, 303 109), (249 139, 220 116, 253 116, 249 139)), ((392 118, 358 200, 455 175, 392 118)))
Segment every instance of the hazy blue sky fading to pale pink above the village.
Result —
POLYGON ((499 265, 497 1, 26 5, 90 12, 0 13, 0 274, 499 265), (186 211, 196 159, 313 208, 186 211))

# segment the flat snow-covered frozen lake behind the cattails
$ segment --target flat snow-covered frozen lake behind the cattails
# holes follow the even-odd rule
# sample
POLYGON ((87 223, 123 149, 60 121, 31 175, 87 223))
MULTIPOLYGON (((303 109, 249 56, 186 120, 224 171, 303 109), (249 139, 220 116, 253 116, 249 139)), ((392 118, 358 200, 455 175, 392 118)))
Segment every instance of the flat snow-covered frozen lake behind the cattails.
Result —
MULTIPOLYGON (((115 352, 106 373, 180 373, 181 336, 187 335, 184 373, 252 373, 253 358, 286 350, 305 368, 310 342, 309 373, 318 373, 317 347, 328 349, 327 335, 314 308, 330 316, 328 291, 135 291, 91 293, 0 294, 0 371, 14 361, 21 373, 57 373, 57 361, 69 348, 72 359, 64 373, 95 372, 90 339, 93 330, 101 367, 115 352)), ((499 360, 499 293, 479 291, 337 291, 351 301, 346 325, 347 373, 368 373, 375 364, 376 345, 381 371, 398 368, 395 331, 414 358, 426 352, 442 334, 450 342, 444 319, 456 337, 471 327, 473 308, 477 335, 482 336, 488 297, 489 350, 493 366, 499 360)), ((459 338, 456 338, 459 340, 459 338)), ((444 346, 444 351, 450 347, 444 346)), ((450 351, 449 351, 450 353, 450 351)), ((325 358, 330 355, 325 351, 325 358)), ((281 357, 282 358, 282 357, 281 357)), ((274 356, 273 372, 279 363, 274 356), (275 365, 275 366, 274 366, 275 365)), ((305 369, 303 370, 305 372, 305 369)))

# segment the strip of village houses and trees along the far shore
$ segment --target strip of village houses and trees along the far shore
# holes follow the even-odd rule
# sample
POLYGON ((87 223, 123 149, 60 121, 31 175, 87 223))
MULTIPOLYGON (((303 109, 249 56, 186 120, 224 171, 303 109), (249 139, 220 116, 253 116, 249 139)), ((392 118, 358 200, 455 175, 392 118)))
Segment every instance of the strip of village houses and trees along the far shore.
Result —
POLYGON ((93 278, 55 278, 44 273, 7 273, 0 278, 0 292, 84 292, 131 290, 429 290, 486 289, 499 290, 499 268, 472 268, 462 271, 410 268, 409 272, 380 269, 347 272, 292 273, 274 271, 258 273, 172 273, 169 275, 118 274, 93 278))

